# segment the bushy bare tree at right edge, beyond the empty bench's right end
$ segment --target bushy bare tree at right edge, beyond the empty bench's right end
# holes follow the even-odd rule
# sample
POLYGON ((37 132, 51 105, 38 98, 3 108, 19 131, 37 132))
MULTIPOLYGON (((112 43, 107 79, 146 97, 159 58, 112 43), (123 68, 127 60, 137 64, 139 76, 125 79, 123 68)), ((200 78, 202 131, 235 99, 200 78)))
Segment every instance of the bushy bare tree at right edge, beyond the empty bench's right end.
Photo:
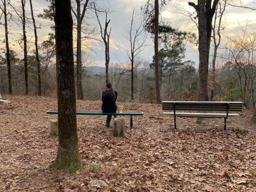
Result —
MULTIPOLYGON (((226 49, 230 55, 229 61, 234 63, 236 83, 241 92, 242 101, 249 108, 250 100, 253 99, 254 84, 256 83, 255 71, 255 47, 256 34, 248 34, 246 27, 241 26, 242 34, 236 37, 228 37, 226 49)), ((254 104, 255 105, 255 104, 254 104)))

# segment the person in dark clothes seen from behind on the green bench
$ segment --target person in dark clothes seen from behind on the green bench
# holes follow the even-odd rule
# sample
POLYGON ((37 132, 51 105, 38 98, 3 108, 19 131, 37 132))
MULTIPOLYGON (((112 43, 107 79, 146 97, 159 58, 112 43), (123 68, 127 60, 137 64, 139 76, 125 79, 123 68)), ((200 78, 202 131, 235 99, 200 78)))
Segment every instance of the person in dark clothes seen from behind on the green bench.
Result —
MULTIPOLYGON (((101 110, 104 113, 116 113, 116 98, 117 98, 117 92, 113 90, 112 84, 108 82, 106 84, 106 90, 102 92, 102 105, 101 110)), ((106 120, 106 127, 110 126, 112 115, 107 116, 106 120)), ((114 116, 116 117, 116 115, 114 116)))

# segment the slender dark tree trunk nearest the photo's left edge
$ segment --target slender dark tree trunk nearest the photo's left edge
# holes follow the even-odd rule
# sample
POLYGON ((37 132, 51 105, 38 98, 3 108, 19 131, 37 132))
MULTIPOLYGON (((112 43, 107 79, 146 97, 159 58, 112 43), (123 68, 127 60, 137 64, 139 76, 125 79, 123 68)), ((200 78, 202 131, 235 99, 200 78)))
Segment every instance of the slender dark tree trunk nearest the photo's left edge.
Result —
POLYGON ((6 11, 6 1, 5 0, 4 0, 4 28, 5 28, 5 46, 6 46, 8 86, 9 86, 9 93, 12 94, 12 70, 11 70, 11 61, 10 61, 10 48, 9 48, 8 27, 7 27, 7 11, 6 11))

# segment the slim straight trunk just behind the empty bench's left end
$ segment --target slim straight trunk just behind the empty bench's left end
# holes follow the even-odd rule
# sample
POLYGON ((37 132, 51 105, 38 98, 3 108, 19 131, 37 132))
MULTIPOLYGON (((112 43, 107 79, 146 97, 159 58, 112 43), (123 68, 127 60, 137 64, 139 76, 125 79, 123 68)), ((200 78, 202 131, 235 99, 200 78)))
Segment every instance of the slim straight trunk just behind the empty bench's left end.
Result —
POLYGON ((159 63, 158 63, 158 25, 159 25, 159 3, 155 0, 155 81, 156 81, 156 102, 161 103, 160 85, 159 85, 159 63))

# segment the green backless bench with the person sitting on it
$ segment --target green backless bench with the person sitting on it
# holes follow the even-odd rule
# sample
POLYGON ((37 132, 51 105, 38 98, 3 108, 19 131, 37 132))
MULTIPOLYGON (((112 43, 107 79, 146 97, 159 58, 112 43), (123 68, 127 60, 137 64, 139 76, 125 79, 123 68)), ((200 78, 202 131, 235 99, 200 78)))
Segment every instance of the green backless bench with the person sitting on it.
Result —
MULTIPOLYGON (((58 114, 57 109, 50 109, 46 112, 47 114, 58 114)), ((103 113, 101 110, 77 110, 76 115, 117 115, 117 116, 131 116, 130 118, 130 127, 132 128, 133 122, 132 122, 132 116, 137 115, 143 115, 142 111, 123 111, 123 113, 120 113, 119 111, 116 111, 116 113, 103 113)))

